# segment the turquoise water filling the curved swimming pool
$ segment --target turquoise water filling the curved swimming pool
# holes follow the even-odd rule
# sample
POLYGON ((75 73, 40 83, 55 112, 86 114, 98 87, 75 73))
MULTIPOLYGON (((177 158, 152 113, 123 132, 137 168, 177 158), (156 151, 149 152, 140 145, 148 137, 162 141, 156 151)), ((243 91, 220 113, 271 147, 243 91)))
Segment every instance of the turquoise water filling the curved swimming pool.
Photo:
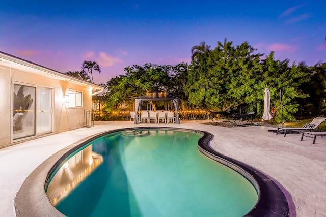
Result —
MULTIPOLYGON (((102 157, 101 163, 55 206, 67 216, 243 216, 258 200, 255 188, 236 171, 203 156, 197 149, 201 137, 138 130, 96 139, 87 148, 102 157)), ((76 179, 71 162, 93 163, 87 153, 63 166, 68 181, 76 179)))

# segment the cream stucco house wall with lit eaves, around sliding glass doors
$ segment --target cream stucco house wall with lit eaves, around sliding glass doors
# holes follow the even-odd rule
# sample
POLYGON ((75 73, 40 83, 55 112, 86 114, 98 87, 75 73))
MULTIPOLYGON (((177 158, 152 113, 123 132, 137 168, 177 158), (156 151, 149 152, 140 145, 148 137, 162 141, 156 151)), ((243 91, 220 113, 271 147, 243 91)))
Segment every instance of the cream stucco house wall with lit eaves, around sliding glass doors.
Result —
MULTIPOLYGON (((44 136, 48 133, 58 133, 62 131, 72 130, 83 127, 85 110, 92 110, 92 93, 99 93, 103 90, 101 86, 78 80, 74 77, 62 74, 60 72, 39 66, 29 61, 11 56, 0 52, 0 148, 17 142, 44 136), (13 98, 14 85, 23 85, 33 87, 35 96, 33 103, 35 104, 34 116, 30 115, 29 119, 34 118, 35 135, 26 136, 24 138, 13 139, 13 98), (51 96, 46 100, 51 101, 51 108, 47 111, 51 117, 51 130, 46 133, 38 133, 37 118, 42 118, 37 111, 38 89, 47 89, 51 92, 51 96), (68 90, 82 92, 83 104, 80 107, 69 107, 66 102, 65 95, 68 90)), ((25 94, 26 95, 26 94, 25 94)), ((28 113, 28 112, 26 112, 28 113)), ((26 120, 28 121, 28 120, 26 120)))

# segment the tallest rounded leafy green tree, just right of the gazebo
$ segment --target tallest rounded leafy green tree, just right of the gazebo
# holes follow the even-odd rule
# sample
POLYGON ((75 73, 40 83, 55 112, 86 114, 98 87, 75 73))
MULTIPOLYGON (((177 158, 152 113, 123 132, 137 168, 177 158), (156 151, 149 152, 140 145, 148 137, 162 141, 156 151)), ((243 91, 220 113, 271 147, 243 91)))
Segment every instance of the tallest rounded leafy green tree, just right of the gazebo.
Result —
POLYGON ((253 92, 259 72, 260 54, 247 42, 232 46, 232 42, 218 46, 192 63, 185 86, 189 102, 197 107, 226 111, 246 102, 253 92))

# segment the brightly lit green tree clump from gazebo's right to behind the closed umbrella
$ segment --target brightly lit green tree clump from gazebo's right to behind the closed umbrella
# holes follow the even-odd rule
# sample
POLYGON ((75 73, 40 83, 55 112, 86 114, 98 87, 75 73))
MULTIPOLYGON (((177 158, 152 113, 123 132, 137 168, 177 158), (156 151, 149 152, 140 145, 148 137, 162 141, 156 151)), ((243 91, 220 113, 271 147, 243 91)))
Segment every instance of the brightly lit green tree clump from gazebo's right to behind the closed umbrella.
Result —
POLYGON ((264 88, 271 88, 271 106, 275 108, 275 118, 281 121, 280 101, 276 96, 283 94, 283 117, 294 120, 298 111, 298 98, 305 98, 299 87, 309 82, 309 73, 289 60, 275 60, 274 52, 263 59, 263 54, 243 42, 233 46, 233 42, 218 41, 208 55, 198 55, 189 66, 185 93, 189 103, 198 108, 226 111, 235 110, 242 104, 248 110, 262 114, 264 88))

